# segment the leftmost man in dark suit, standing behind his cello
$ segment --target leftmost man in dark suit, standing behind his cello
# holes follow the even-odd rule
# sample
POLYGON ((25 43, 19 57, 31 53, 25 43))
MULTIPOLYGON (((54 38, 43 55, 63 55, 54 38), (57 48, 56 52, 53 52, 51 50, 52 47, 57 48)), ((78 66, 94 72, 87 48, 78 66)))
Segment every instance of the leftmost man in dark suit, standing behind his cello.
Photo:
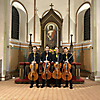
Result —
MULTIPOLYGON (((30 62, 30 64, 33 64, 33 63, 39 64, 40 62, 40 55, 36 51, 37 51, 37 47, 33 46, 33 52, 28 57, 28 62, 30 62)), ((37 73, 39 73, 39 67, 37 69, 37 73)), ((37 88, 39 88, 38 83, 39 83, 39 79, 36 80, 37 88)), ((33 84, 34 84, 34 81, 32 80, 30 88, 33 87, 33 84)))

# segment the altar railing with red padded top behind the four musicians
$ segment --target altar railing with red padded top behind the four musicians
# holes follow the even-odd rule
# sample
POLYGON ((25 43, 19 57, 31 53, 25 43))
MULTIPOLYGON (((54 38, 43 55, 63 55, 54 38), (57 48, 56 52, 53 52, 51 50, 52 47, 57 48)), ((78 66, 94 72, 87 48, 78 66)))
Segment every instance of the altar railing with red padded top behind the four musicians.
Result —
MULTIPOLYGON (((19 62, 19 77, 20 79, 24 79, 25 76, 30 72, 30 63, 29 62, 19 62)), ((80 79, 80 65, 81 63, 72 62, 72 75, 76 77, 76 79, 80 79)), ((53 68, 53 63, 51 63, 51 71, 53 68)), ((42 62, 39 63, 39 74, 42 74, 42 62)))

